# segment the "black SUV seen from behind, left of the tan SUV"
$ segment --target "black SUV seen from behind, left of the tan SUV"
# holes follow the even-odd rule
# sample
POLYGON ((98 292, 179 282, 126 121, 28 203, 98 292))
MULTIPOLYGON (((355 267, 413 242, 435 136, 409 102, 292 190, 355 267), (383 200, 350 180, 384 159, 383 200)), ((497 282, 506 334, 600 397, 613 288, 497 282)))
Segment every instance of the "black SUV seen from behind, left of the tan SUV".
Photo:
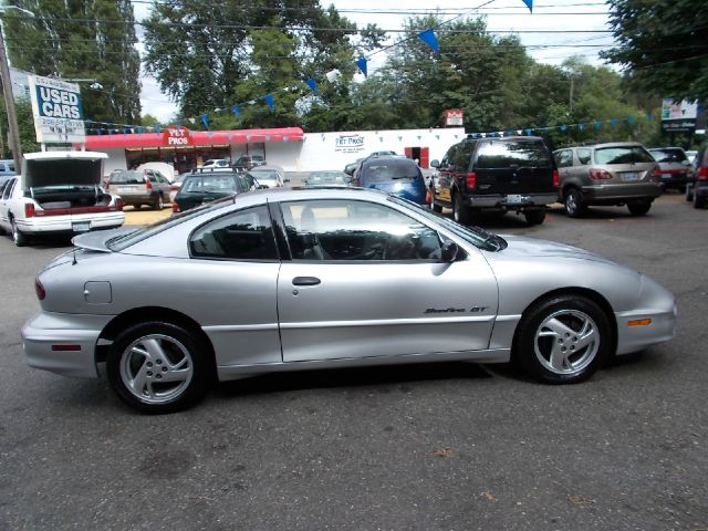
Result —
POLYGON ((431 207, 452 208, 455 220, 468 223, 473 212, 513 210, 529 225, 545 219, 546 205, 558 200, 559 174, 542 138, 467 138, 448 149, 430 186, 431 207))

